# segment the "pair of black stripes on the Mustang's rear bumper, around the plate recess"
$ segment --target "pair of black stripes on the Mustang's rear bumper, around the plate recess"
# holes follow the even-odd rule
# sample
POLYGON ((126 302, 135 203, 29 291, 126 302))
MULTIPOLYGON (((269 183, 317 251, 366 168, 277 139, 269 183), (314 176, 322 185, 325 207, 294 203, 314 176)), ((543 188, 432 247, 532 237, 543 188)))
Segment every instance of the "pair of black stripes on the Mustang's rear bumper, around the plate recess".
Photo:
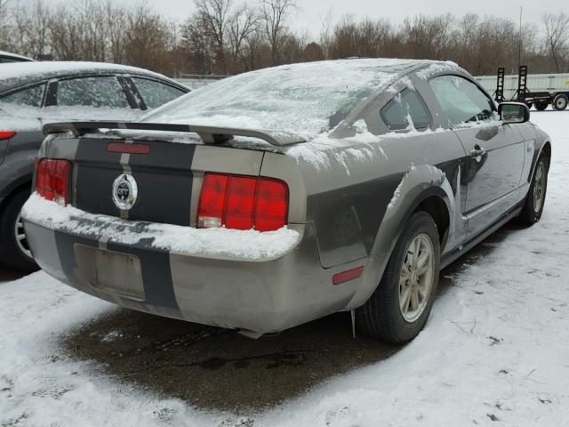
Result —
MULTIPOLYGON (((89 286, 77 266, 75 246, 78 244, 99 248, 98 240, 94 237, 77 237, 56 231, 55 241, 61 267, 70 285, 87 294, 114 302, 108 293, 89 286)), ((159 313, 170 318, 183 318, 173 291, 170 256, 167 253, 156 251, 156 249, 149 247, 149 244, 150 242, 140 242, 134 246, 118 245, 110 242, 107 244, 109 251, 134 255, 140 259, 145 300, 138 302, 121 297, 121 305, 132 310, 159 313), (150 306, 152 310, 150 310, 150 306)))

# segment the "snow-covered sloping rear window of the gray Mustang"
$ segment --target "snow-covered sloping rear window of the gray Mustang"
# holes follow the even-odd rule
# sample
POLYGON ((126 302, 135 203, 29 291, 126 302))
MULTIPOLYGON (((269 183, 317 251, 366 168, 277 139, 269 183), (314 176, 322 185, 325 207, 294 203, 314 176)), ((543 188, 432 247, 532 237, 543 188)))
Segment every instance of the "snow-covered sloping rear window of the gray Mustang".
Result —
POLYGON ((188 93, 141 121, 289 131, 331 130, 389 81, 379 60, 295 64, 230 77, 188 93))

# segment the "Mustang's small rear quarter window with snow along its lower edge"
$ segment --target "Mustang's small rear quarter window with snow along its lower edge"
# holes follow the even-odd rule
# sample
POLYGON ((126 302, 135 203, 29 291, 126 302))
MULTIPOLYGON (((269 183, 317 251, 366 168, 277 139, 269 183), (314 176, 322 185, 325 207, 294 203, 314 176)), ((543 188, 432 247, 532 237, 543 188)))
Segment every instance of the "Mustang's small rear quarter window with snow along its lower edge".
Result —
POLYGON ((383 123, 392 131, 404 130, 410 125, 415 129, 425 129, 431 125, 429 109, 418 93, 405 89, 389 101, 380 111, 383 123), (409 118, 411 122, 409 123, 409 118))

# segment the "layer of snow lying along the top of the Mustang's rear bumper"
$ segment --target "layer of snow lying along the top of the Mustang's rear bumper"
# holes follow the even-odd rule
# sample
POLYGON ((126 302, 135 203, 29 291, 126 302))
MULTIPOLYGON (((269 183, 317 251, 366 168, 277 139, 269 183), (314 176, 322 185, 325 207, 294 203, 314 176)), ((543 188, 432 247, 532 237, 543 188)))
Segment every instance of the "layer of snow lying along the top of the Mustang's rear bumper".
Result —
POLYGON ((300 234, 283 227, 276 231, 195 229, 156 222, 129 222, 108 215, 89 214, 73 206, 60 206, 40 197, 29 197, 22 208, 24 219, 50 230, 68 231, 124 245, 141 244, 174 254, 223 257, 241 261, 276 259, 299 242, 300 234))

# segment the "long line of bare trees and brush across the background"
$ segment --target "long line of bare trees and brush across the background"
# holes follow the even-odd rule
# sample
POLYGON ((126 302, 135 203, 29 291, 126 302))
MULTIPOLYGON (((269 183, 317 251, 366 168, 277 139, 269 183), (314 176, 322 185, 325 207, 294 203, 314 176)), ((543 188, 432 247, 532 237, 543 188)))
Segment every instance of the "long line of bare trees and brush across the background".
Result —
MULTIPOLYGON (((188 0, 189 1, 189 0, 188 0)), ((0 50, 40 60, 95 60, 180 73, 233 75, 273 65, 344 57, 453 60, 473 75, 569 72, 569 14, 541 24, 468 13, 334 19, 315 37, 299 31, 295 0, 194 0, 195 12, 169 20, 148 3, 112 0, 0 0, 0 50)))

